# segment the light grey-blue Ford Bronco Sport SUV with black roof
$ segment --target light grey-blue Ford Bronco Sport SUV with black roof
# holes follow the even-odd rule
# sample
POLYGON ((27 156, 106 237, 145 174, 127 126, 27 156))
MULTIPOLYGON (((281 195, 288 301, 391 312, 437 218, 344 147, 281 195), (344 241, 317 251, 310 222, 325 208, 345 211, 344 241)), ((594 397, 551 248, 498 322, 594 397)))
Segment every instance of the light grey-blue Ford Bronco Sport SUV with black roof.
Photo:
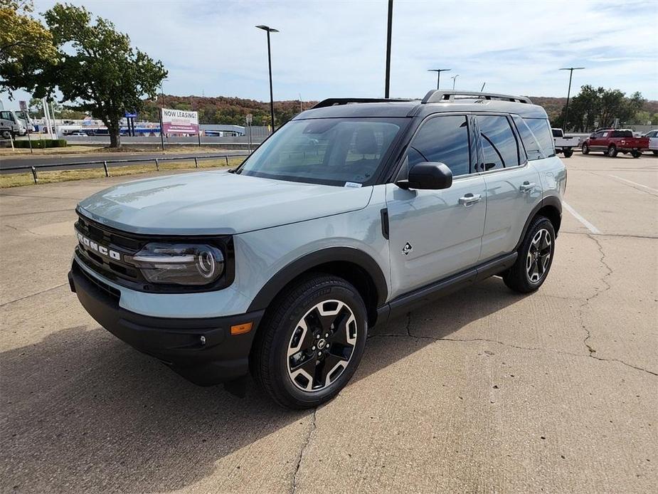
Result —
POLYGON ((237 169, 80 202, 70 287, 114 335, 197 384, 317 406, 368 329, 500 275, 537 290, 566 170, 528 98, 324 100, 237 169))

